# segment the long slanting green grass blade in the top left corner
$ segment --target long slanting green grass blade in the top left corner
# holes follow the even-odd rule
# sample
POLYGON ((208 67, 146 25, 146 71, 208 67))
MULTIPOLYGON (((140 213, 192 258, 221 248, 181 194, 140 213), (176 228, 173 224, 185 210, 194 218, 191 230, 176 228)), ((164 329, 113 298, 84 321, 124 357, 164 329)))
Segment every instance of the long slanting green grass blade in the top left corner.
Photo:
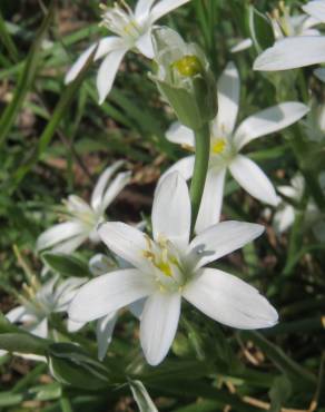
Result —
POLYGON ((13 98, 11 102, 4 109, 4 112, 1 116, 0 119, 0 147, 3 144, 8 133, 10 131, 16 117, 18 115, 18 111, 23 104, 24 97, 27 92, 32 87, 32 82, 35 79, 35 76, 37 73, 37 69, 39 67, 39 62, 41 59, 40 53, 40 47, 42 43, 42 40, 45 38, 45 35, 47 33, 53 14, 55 14, 55 1, 51 2, 51 6, 49 8, 49 12, 46 16, 37 36, 36 40, 33 41, 31 49, 28 53, 27 61, 24 63, 24 67, 22 69, 21 76, 19 78, 19 81, 16 86, 13 98))

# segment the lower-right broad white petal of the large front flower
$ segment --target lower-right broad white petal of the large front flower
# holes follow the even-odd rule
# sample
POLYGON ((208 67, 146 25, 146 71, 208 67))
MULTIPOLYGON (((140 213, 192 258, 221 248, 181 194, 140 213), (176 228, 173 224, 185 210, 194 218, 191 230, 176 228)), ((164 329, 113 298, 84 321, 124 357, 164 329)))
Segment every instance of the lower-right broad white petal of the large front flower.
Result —
POLYGON ((276 310, 255 287, 221 271, 203 269, 183 296, 207 316, 232 327, 270 327, 278 321, 276 310))

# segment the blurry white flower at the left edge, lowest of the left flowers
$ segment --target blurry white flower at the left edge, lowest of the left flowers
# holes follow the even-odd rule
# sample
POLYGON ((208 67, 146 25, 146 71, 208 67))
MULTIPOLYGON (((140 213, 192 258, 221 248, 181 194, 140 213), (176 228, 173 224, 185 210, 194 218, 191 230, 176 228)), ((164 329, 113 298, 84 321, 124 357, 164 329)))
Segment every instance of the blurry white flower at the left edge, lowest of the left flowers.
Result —
POLYGON ((66 312, 77 288, 85 283, 85 278, 70 277, 60 282, 53 276, 42 286, 33 278, 30 286, 24 285, 24 295, 21 295, 21 306, 8 312, 6 317, 11 323, 21 324, 21 327, 39 337, 49 336, 48 320, 52 313, 66 312))

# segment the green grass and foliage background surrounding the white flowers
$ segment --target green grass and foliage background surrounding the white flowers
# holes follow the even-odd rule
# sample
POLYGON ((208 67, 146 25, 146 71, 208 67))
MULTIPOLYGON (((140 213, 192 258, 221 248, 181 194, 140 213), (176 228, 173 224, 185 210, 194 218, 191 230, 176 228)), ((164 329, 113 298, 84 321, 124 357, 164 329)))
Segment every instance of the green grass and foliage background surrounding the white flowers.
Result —
MULTIPOLYGON (((98 1, 24 3, 0 4, 3 313, 26 292, 13 245, 30 262, 39 282, 42 261, 61 278, 87 277, 86 262, 97 252, 107 252, 102 245, 87 244, 78 255, 46 252, 37 256, 37 237, 57 222, 60 210, 55 205, 72 193, 89 200, 99 171, 125 158, 134 171, 132 184, 111 205, 108 218, 147 219, 159 175, 188 154, 165 138, 175 117, 147 76, 151 63, 140 56, 127 56, 100 107, 93 55, 77 80, 63 85, 68 67, 80 52, 107 36, 105 28, 98 27, 98 1)), ((301 11, 297 1, 286 4, 295 13, 301 11)), ((309 68, 272 75, 252 69, 257 53, 274 42, 266 13, 277 6, 277 1, 266 0, 254 6, 242 0, 193 0, 162 21, 187 41, 200 45, 216 78, 227 61, 235 61, 243 84, 240 119, 284 100, 308 104, 311 95, 318 105, 324 102, 324 87, 309 68), (248 36, 254 48, 229 52, 248 36)), ((306 125, 299 122, 252 143, 255 151, 249 157, 275 185, 288 183, 296 171, 307 182, 302 202, 294 205, 293 228, 282 236, 272 227, 274 210, 268 216, 234 180, 226 182, 225 217, 262 223, 267 233, 243 254, 218 262, 218 267, 265 293, 279 311, 277 326, 258 333, 236 332, 184 304, 168 359, 150 367, 138 344, 138 322, 129 313, 121 314, 104 362, 97 359, 92 324, 69 333, 66 314, 58 313, 51 320, 50 339, 43 340, 0 314, 0 349, 9 352, 0 357, 0 374, 4 376, 0 381, 1 411, 27 411, 27 401, 37 402, 35 409, 41 412, 134 410, 130 389, 138 409, 148 412, 221 411, 227 405, 240 412, 259 410, 247 400, 264 402, 273 412, 308 410, 314 400, 316 410, 324 411, 324 242, 315 239, 305 222, 309 200, 324 215, 318 182, 324 171, 324 141, 311 141, 306 125), (26 367, 19 369, 13 356, 21 354, 46 356, 47 362, 23 360, 26 367)))

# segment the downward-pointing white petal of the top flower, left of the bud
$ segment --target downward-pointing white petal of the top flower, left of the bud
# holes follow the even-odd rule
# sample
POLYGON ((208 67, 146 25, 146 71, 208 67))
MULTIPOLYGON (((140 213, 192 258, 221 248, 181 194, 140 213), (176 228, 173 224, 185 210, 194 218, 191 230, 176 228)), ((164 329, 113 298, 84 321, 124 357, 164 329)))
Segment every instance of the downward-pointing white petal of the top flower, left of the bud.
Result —
POLYGON ((100 105, 105 101, 107 95, 110 92, 120 62, 127 51, 127 47, 114 50, 102 60, 96 81, 100 105))

